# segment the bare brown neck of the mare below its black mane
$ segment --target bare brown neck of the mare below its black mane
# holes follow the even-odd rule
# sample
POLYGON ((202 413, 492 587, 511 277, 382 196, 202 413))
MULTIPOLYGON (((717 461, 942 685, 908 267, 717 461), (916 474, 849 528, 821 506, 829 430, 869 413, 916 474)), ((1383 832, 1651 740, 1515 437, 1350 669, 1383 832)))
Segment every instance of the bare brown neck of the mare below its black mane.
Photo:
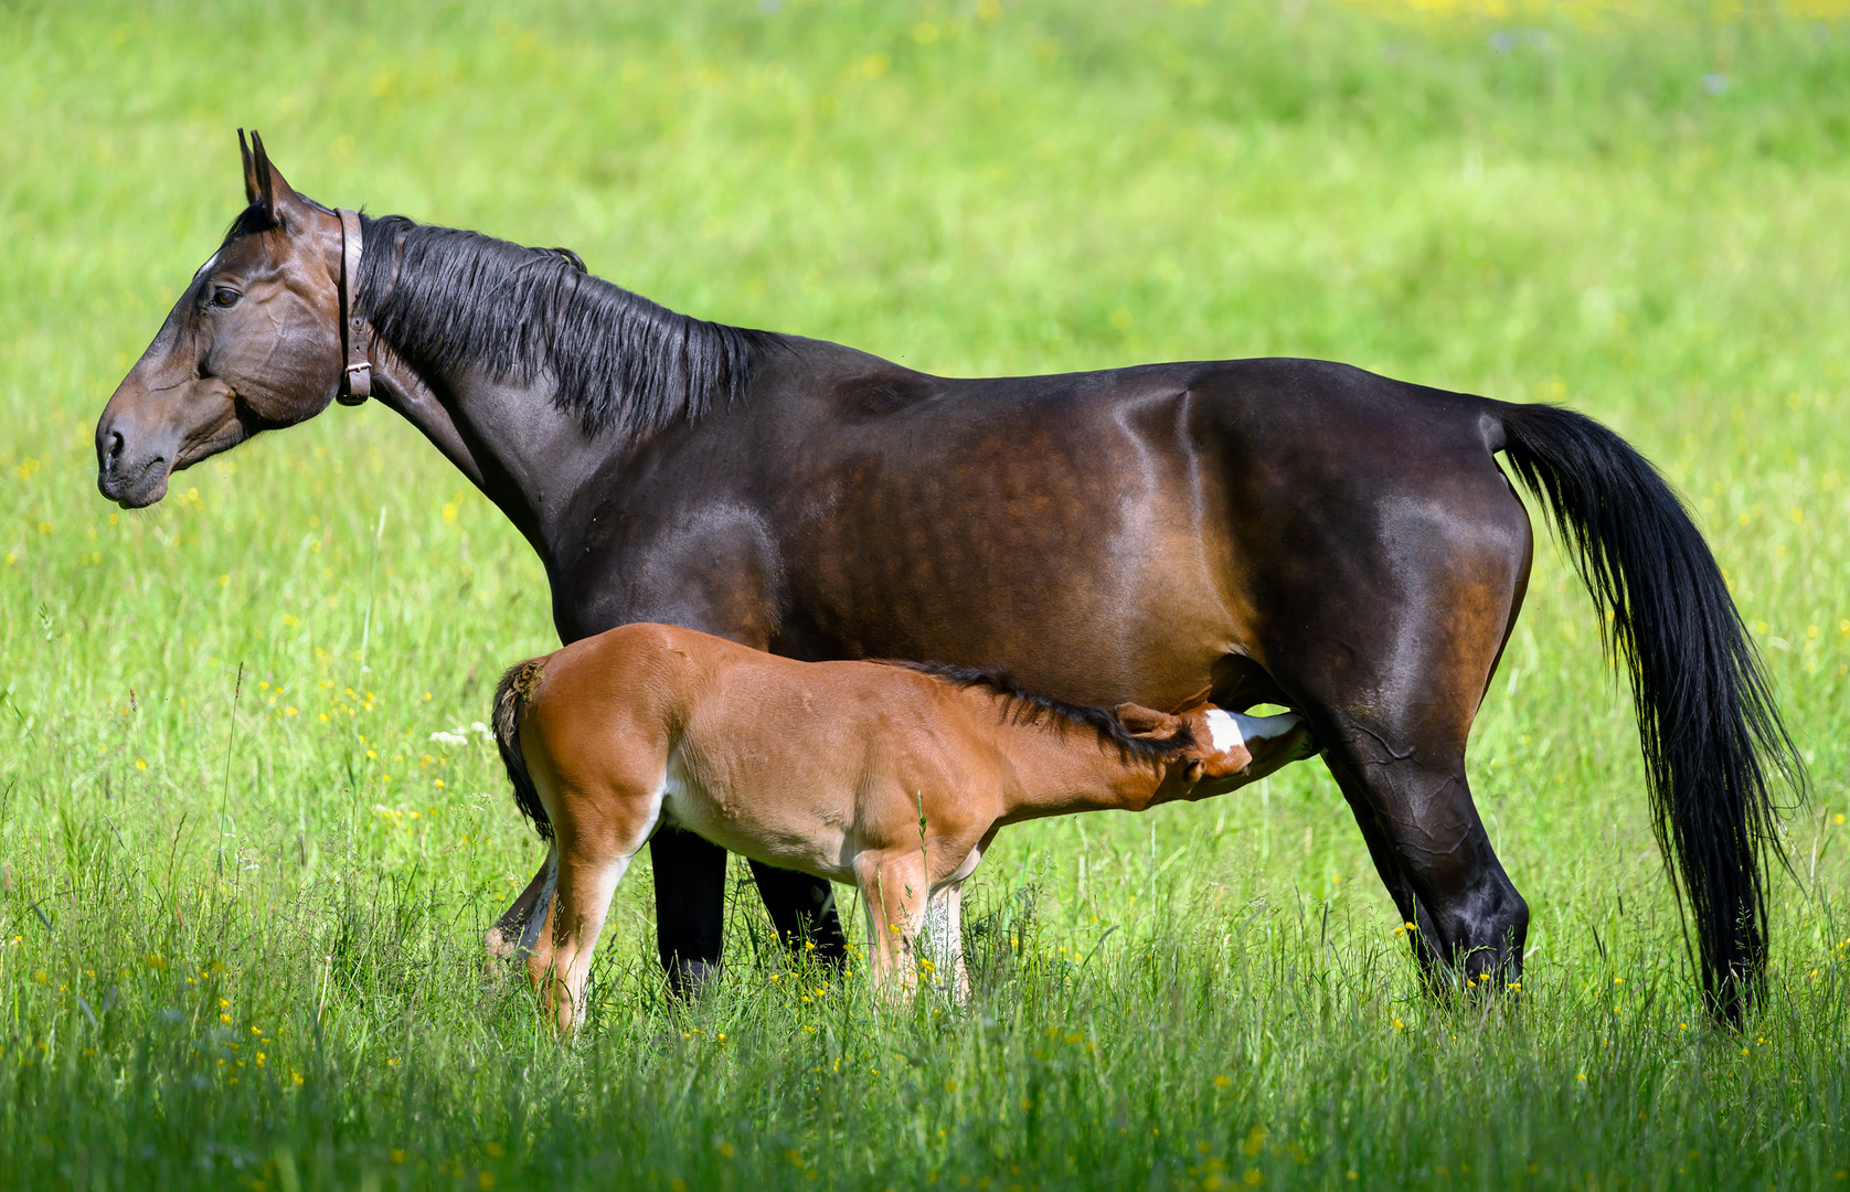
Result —
POLYGON ((548 574, 561 557, 572 498, 616 450, 553 405, 544 378, 507 385, 427 374, 374 341, 379 402, 416 426, 533 544, 548 574))

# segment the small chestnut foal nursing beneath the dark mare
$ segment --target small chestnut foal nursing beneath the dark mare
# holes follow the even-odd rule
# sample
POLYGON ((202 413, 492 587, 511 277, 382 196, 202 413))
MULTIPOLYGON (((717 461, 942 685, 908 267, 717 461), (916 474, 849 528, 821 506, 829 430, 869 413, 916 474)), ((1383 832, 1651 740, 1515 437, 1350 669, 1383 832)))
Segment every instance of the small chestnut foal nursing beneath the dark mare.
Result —
POLYGON ((559 888, 527 970, 562 1029, 605 911, 664 824, 855 883, 873 975, 968 992, 958 890, 1005 824, 1223 794, 1315 751, 1297 713, 1075 707, 918 663, 799 663, 633 624, 520 663, 494 698, 514 798, 555 837, 559 888))

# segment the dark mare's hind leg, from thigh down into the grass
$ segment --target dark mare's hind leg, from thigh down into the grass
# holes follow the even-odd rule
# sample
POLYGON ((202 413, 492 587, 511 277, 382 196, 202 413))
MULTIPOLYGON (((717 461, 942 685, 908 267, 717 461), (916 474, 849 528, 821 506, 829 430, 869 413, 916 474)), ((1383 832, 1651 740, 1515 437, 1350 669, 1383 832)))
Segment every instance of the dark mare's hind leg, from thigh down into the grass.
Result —
POLYGON ((1465 779, 1465 739, 1528 581, 1528 516, 1502 496, 1393 553, 1358 550, 1297 594, 1267 650, 1436 983, 1519 975, 1528 933, 1465 779))

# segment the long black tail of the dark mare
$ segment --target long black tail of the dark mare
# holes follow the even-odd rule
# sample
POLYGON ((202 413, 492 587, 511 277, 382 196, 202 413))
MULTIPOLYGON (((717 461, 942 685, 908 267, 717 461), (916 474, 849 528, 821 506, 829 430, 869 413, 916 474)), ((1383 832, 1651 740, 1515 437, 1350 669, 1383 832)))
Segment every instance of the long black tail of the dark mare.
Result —
POLYGON ((1767 966, 1769 770, 1804 794, 1759 653, 1702 533, 1650 463, 1598 422, 1498 405, 1504 450, 1572 548, 1608 652, 1632 672, 1658 844, 1696 920, 1702 990, 1737 1020, 1767 966))

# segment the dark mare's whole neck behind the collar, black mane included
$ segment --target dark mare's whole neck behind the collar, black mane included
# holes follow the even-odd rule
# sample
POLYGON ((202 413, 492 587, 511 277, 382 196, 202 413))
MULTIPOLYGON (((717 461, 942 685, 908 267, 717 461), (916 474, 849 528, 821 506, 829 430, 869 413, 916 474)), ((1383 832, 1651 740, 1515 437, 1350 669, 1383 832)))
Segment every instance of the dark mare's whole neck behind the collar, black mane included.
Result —
POLYGON ((740 396, 770 339, 675 315, 557 252, 396 217, 366 235, 359 302, 405 381, 390 385, 400 413, 507 513, 555 585, 575 561, 574 498, 714 394, 740 396))

